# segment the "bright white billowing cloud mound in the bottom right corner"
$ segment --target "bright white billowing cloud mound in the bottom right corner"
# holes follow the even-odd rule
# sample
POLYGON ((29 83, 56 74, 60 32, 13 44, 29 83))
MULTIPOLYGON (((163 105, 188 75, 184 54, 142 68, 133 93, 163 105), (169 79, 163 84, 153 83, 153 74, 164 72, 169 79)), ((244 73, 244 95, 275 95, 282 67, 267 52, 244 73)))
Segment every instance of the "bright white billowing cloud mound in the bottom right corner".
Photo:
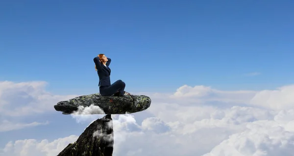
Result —
POLYGON ((281 125, 274 120, 247 123, 244 131, 230 135, 203 156, 293 156, 294 131, 281 125))

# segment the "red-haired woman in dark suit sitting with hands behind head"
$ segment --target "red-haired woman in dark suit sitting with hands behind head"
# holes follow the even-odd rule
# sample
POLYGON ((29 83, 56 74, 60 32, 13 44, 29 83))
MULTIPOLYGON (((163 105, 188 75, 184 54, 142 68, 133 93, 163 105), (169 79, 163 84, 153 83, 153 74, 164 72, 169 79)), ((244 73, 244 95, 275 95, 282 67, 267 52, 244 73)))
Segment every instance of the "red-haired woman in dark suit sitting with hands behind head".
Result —
POLYGON ((104 54, 99 54, 94 58, 94 63, 99 76, 99 92, 102 96, 113 94, 115 96, 130 95, 130 93, 124 91, 125 83, 122 80, 118 80, 110 85, 110 58, 107 58, 104 54))

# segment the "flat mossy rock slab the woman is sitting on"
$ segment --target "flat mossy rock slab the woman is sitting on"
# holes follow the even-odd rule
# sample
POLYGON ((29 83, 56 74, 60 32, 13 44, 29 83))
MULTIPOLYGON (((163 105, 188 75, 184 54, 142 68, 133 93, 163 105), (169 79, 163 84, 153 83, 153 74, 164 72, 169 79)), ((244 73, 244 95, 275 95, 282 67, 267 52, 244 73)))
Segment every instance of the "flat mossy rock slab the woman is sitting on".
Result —
POLYGON ((146 95, 101 96, 99 93, 78 96, 54 105, 63 114, 125 114, 144 111, 150 107, 146 95))

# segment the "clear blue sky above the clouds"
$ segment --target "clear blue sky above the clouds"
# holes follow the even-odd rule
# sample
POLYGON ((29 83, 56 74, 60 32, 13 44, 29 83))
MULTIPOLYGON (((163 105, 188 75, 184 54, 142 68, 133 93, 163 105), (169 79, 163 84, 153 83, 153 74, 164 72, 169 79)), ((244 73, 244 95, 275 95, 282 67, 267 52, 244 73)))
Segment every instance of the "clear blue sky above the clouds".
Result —
MULTIPOLYGON (((292 83, 292 0, 0 2, 0 80, 98 91, 93 58, 130 91, 292 83), (254 77, 246 73, 260 72, 254 77)), ((64 90, 66 89, 66 90, 64 90)))

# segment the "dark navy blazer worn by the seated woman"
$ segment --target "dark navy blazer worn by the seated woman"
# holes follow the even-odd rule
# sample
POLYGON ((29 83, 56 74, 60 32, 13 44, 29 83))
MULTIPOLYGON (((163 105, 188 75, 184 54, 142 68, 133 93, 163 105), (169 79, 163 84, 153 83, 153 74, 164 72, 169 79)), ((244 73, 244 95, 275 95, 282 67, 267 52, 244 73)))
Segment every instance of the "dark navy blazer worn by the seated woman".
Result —
POLYGON ((108 67, 111 63, 111 59, 110 58, 107 58, 107 62, 106 62, 106 66, 105 67, 102 63, 99 62, 99 57, 95 57, 94 58, 94 63, 96 65, 96 68, 97 68, 97 73, 98 73, 98 76, 99 76, 99 87, 100 86, 110 86, 110 73, 111 73, 111 70, 110 68, 108 67))

